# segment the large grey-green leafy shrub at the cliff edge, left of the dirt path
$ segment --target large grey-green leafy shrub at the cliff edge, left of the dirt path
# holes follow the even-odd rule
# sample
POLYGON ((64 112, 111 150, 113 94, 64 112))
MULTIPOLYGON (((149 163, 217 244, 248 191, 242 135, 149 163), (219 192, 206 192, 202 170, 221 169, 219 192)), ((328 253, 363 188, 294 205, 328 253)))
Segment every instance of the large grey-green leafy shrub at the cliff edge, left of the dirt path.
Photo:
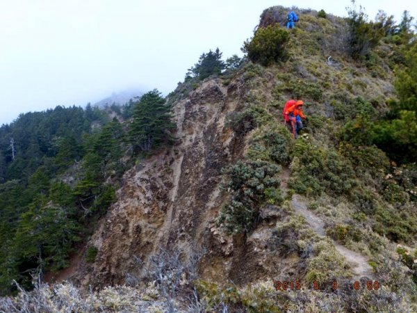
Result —
POLYGON ((250 232, 263 202, 282 201, 279 170, 279 166, 265 161, 238 161, 222 170, 225 175, 222 188, 231 192, 232 197, 231 203, 220 210, 217 225, 231 234, 250 232))

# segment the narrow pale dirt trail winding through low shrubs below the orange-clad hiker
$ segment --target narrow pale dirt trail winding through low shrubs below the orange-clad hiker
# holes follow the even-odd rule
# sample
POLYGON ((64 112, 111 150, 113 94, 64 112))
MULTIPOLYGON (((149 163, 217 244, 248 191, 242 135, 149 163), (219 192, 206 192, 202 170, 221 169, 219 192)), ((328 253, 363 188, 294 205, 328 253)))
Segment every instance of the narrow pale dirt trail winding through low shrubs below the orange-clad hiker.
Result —
MULTIPOLYGON (((281 187, 286 188, 286 181, 289 177, 290 171, 288 168, 283 168, 281 172, 281 187)), ((326 236, 325 223, 320 217, 307 209, 306 201, 300 195, 293 195, 291 204, 298 214, 304 216, 307 223, 316 234, 326 236)), ((336 250, 343 255, 350 264, 354 278, 361 278, 363 276, 374 278, 372 267, 368 264, 368 257, 361 255, 358 252, 354 252, 336 241, 333 241, 333 244, 336 250)))

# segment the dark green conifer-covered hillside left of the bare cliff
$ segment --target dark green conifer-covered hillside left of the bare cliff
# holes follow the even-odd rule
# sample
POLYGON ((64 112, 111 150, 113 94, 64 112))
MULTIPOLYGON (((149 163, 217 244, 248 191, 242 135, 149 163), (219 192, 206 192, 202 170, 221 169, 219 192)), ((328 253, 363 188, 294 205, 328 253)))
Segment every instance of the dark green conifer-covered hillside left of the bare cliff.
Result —
POLYGON ((142 118, 163 113, 167 106, 154 107, 163 103, 153 91, 118 108, 133 116, 129 125, 88 105, 21 114, 0 128, 1 294, 16 290, 13 280, 31 287, 33 275, 69 265, 70 252, 116 200, 130 157, 165 142, 158 134, 169 116, 146 131, 153 120, 142 118))

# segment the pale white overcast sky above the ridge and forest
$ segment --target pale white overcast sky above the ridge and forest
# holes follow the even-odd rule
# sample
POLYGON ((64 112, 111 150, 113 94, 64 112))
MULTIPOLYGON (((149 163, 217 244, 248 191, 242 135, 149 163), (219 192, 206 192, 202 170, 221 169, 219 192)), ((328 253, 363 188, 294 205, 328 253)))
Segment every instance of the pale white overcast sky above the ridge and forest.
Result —
MULTIPOLYGON (((357 2, 372 19, 378 9, 417 16, 417 1, 357 2)), ((0 124, 126 89, 167 95, 208 49, 241 56, 277 5, 346 16, 350 0, 0 0, 0 124)))

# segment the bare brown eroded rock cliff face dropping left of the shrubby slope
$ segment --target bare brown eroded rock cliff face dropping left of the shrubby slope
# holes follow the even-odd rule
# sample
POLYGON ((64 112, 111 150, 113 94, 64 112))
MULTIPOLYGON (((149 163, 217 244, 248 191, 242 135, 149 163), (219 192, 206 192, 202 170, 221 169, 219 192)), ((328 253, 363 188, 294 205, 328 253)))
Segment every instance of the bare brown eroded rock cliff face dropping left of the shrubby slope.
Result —
POLYGON ((247 136, 227 127, 227 118, 247 93, 250 88, 241 77, 227 87, 215 79, 174 103, 179 141, 124 175, 119 200, 90 241, 99 250, 96 262, 76 275, 84 285, 121 284, 161 249, 204 253, 202 278, 217 282, 243 284, 276 275, 278 268, 286 271, 286 264, 296 266, 297 256, 283 261, 265 251, 275 227, 273 213, 248 238, 226 236, 215 227, 229 199, 220 190, 221 170, 242 159, 247 145, 247 136))

